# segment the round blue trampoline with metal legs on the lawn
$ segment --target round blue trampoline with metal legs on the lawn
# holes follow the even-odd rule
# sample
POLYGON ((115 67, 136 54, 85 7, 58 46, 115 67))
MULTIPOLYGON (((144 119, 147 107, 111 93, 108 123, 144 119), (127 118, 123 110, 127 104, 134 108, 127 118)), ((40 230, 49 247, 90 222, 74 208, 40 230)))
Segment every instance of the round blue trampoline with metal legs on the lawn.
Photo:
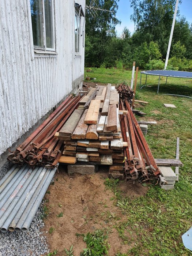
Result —
MULTIPOLYGON (((160 84, 160 77, 166 76, 166 83, 167 84, 167 77, 174 77, 174 78, 192 78, 192 72, 187 71, 175 71, 175 70, 147 70, 147 71, 141 71, 140 76, 140 89, 142 89, 144 86, 146 86, 147 83, 147 75, 151 76, 159 76, 159 82, 158 82, 158 88, 157 88, 157 94, 159 93, 159 84, 160 84), (141 86, 141 78, 142 74, 146 75, 145 84, 141 86)), ((179 96, 179 95, 178 95, 179 96)))

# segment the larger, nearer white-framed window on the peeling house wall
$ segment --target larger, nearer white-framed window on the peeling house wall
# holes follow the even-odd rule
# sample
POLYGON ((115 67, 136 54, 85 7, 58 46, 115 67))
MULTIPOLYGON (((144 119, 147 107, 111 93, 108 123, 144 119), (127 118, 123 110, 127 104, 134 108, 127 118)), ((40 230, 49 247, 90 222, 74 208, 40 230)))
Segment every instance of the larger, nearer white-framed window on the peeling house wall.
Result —
POLYGON ((34 49, 55 50, 54 0, 30 0, 34 49))

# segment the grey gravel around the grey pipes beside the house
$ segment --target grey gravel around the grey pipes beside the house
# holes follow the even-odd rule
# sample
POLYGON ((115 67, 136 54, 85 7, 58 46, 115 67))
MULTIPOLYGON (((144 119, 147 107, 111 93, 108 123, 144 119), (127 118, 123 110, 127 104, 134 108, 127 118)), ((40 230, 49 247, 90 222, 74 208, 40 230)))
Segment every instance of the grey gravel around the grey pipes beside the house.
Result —
MULTIPOLYGON (((0 180, 10 170, 12 163, 6 163, 0 169, 0 180)), ((49 253, 46 243, 46 236, 42 236, 40 229, 44 227, 41 219, 43 213, 43 203, 38 208, 37 213, 26 233, 20 232, 0 232, 0 256, 40 256, 49 253)))

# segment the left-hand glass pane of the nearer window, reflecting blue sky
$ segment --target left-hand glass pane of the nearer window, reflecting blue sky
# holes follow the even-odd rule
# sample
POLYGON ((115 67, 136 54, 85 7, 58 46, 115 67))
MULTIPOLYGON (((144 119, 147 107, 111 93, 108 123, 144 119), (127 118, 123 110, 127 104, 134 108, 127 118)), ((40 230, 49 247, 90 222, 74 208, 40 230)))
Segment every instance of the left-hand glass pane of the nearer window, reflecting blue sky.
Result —
POLYGON ((43 42, 43 7, 42 0, 30 0, 33 44, 44 47, 43 42))

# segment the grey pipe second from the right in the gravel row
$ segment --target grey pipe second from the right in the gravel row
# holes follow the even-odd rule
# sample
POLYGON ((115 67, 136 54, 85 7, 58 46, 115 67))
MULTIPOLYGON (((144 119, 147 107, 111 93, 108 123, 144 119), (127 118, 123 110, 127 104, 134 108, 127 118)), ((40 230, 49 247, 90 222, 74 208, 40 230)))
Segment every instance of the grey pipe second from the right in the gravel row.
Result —
MULTIPOLYGON (((33 207, 33 205, 36 204, 36 199, 37 199, 39 193, 41 192, 41 189, 42 189, 44 183, 46 182, 46 180, 49 176, 49 173, 52 169, 46 169, 46 170, 47 171, 45 172, 44 177, 42 178, 41 182, 39 183, 37 189, 34 191, 33 196, 31 197, 29 203, 27 204, 25 210, 23 211, 22 216, 20 217, 18 223, 16 224, 16 227, 15 227, 16 232, 21 231, 23 223, 25 222, 27 216, 30 214, 30 211, 31 211, 31 208, 33 207)), ((48 186, 49 186, 49 184, 48 184, 48 186)))

